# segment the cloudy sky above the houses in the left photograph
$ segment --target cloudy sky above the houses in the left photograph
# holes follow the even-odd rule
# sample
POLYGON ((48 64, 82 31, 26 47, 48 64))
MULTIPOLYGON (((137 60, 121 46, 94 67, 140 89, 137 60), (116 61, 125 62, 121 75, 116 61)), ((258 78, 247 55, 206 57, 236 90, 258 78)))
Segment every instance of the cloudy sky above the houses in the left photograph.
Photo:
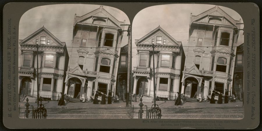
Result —
MULTIPOLYGON (((45 26, 56 38, 66 43, 68 54, 70 54, 71 48, 69 47, 72 47, 75 13, 77 16, 82 16, 97 8, 100 8, 100 5, 57 4, 32 8, 24 13, 20 19, 19 39, 24 39, 42 26, 45 26)), ((130 24, 128 16, 123 11, 109 6, 103 6, 103 8, 118 21, 123 22, 125 20, 126 24, 130 24)), ((127 28, 125 27, 125 30, 127 28)), ((128 44, 128 36, 127 32, 124 32, 121 47, 126 44, 128 44)))

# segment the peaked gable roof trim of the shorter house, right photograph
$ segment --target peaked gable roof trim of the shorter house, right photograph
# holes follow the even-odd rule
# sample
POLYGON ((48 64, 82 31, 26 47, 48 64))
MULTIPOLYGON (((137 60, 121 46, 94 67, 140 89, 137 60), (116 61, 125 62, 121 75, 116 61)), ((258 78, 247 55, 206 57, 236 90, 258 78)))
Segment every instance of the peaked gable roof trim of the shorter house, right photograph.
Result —
POLYGON ((143 40, 147 39, 148 37, 154 35, 157 31, 162 31, 164 33, 165 36, 169 37, 170 40, 173 41, 173 43, 177 44, 178 46, 181 45, 181 42, 176 41, 172 36, 170 36, 166 31, 164 31, 164 29, 162 29, 160 26, 158 26, 157 28, 155 28, 153 31, 149 32, 148 34, 146 34, 144 37, 142 37, 141 39, 137 40, 135 42, 135 44, 140 44, 143 40))

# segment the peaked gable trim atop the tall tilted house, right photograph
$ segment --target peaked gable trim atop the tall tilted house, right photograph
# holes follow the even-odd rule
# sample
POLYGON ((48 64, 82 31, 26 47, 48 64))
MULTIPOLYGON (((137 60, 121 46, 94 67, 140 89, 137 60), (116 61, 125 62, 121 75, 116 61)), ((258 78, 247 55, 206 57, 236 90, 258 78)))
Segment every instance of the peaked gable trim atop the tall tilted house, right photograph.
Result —
POLYGON ((192 15, 191 16, 191 21, 190 24, 192 24, 193 22, 196 22, 197 20, 206 17, 208 15, 213 15, 213 16, 218 16, 218 17, 223 17, 226 20, 228 20, 231 24, 233 24, 236 27, 240 27, 240 25, 237 25, 236 23, 239 23, 240 20, 234 20, 231 16, 229 16, 226 12, 224 12, 221 8, 219 8, 218 6, 215 6, 199 15, 192 15), (217 12, 217 14, 215 14, 215 12, 217 12), (219 15, 218 15, 219 14, 219 15))

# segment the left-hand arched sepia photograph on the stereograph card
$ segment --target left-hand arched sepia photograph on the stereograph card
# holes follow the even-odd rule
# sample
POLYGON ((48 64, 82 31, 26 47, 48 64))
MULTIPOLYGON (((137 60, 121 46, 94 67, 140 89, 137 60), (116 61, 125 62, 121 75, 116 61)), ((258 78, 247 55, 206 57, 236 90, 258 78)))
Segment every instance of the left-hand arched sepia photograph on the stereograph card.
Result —
POLYGON ((123 11, 102 5, 47 5, 24 13, 19 117, 130 118, 119 101, 127 81, 128 25, 123 11))

